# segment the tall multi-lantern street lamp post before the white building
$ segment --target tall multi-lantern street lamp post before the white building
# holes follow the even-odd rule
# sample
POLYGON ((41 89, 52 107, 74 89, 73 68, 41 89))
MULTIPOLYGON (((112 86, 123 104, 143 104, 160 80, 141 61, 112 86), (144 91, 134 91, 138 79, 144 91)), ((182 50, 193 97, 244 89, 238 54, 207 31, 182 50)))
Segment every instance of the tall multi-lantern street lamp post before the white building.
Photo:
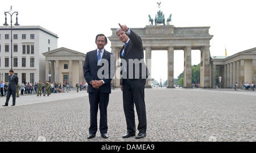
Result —
POLYGON ((18 11, 14 11, 11 12, 12 10, 12 6, 10 11, 5 12, 5 23, 3 24, 3 26, 8 27, 9 24, 7 24, 7 18, 6 15, 9 14, 11 17, 11 70, 13 70, 13 15, 16 14, 16 23, 14 24, 15 27, 19 27, 18 24, 18 11))

